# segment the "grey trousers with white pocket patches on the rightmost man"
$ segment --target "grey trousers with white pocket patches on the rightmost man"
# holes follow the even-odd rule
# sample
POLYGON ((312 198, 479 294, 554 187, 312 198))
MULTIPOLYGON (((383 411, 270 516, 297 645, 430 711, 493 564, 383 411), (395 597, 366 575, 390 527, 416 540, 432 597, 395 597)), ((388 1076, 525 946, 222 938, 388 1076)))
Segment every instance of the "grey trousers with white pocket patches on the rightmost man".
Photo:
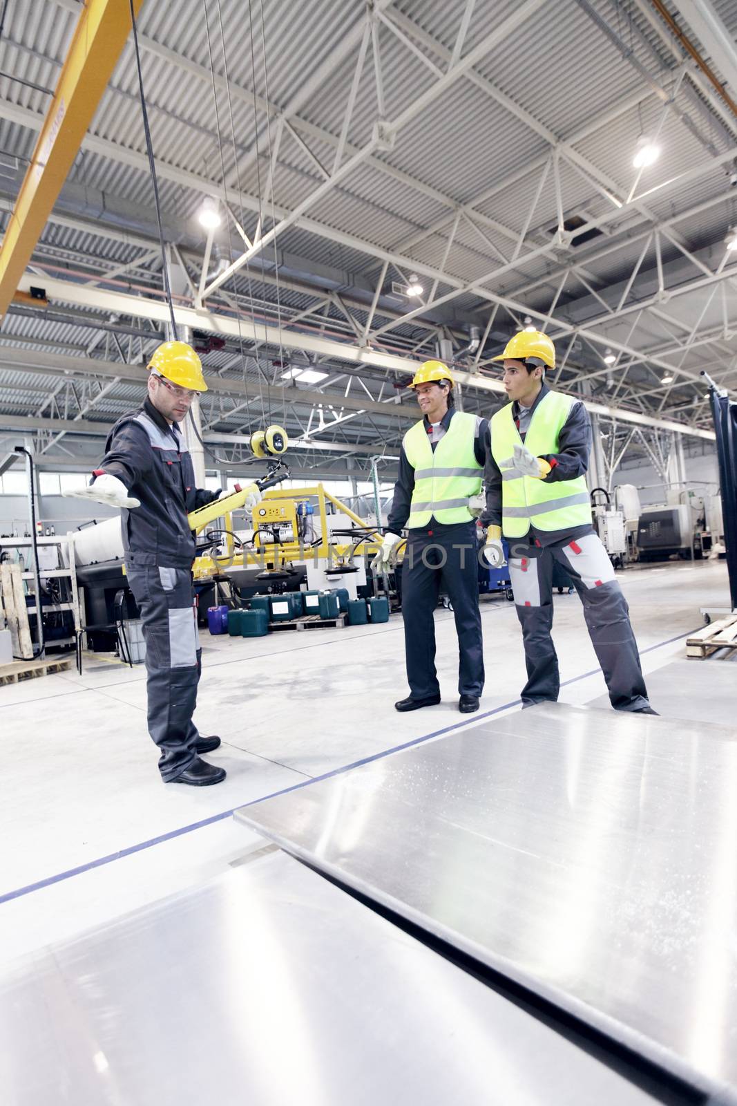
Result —
POLYGON ((589 637, 601 665, 614 710, 647 707, 647 691, 640 666, 630 613, 614 570, 597 534, 560 545, 527 549, 509 540, 509 578, 525 643, 527 684, 525 706, 557 700, 560 689, 558 657, 550 637, 552 626, 554 561, 567 570, 583 604, 589 637))

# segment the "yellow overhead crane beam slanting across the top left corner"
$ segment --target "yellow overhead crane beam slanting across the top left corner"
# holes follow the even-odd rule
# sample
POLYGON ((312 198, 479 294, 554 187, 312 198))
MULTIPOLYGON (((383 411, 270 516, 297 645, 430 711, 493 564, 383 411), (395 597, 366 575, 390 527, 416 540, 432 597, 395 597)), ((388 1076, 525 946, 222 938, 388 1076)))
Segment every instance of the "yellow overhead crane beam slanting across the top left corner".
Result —
MULTIPOLYGON (((144 0, 134 0, 136 14, 144 0)), ((0 248, 0 316, 15 295, 130 31, 127 0, 86 0, 0 248)))

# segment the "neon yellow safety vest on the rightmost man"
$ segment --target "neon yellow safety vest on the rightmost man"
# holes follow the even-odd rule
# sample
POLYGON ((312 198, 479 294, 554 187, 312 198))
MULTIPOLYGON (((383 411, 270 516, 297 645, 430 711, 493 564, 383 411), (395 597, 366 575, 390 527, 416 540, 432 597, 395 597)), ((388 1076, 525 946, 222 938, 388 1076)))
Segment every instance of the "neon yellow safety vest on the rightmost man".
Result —
MULTIPOLYGON (((535 457, 558 452, 558 435, 577 400, 548 392, 533 411, 525 446, 535 457)), ((591 501, 586 477, 546 483, 525 477, 509 465, 514 446, 522 442, 512 404, 492 417, 492 456, 502 472, 502 532, 524 538, 530 525, 539 530, 569 530, 591 524, 591 501)))

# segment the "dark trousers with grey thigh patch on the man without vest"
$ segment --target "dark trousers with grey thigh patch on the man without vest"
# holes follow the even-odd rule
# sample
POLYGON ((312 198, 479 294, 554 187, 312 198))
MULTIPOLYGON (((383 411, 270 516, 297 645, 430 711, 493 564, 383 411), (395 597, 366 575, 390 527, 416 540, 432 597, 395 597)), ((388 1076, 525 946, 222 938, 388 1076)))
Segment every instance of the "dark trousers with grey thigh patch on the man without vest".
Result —
POLYGON ((199 737, 192 722, 200 679, 192 574, 188 568, 127 570, 144 624, 148 674, 148 732, 159 747, 165 783, 194 760, 199 737))

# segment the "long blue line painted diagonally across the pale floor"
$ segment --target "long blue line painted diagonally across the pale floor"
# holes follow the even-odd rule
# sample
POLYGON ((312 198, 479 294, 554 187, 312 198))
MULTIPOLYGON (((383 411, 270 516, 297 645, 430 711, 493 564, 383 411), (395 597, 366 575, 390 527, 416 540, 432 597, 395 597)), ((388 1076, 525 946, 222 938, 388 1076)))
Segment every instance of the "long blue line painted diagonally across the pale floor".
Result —
MULTIPOLYGON (((674 641, 680 641, 683 637, 688 637, 689 634, 693 634, 693 630, 686 630, 685 634, 677 634, 675 637, 670 637, 666 641, 659 641, 656 645, 650 645, 646 649, 641 649, 640 655, 642 656, 644 653, 652 653, 653 649, 661 649, 664 645, 672 645, 674 641)), ((565 680, 560 686, 568 687, 569 684, 578 684, 579 680, 586 680, 589 676, 596 676, 600 671, 600 668, 593 668, 590 672, 581 672, 580 676, 573 676, 571 679, 565 680)), ((66 872, 60 872, 55 876, 46 876, 45 879, 39 879, 36 883, 28 884, 25 887, 19 887, 13 891, 6 891, 4 895, 0 895, 0 906, 2 906, 3 902, 10 902, 12 899, 22 898, 24 895, 31 895, 33 891, 43 890, 44 887, 52 887, 54 884, 63 883, 65 879, 71 879, 73 876, 81 876, 85 872, 92 872, 94 868, 103 867, 105 864, 112 864, 113 860, 122 860, 126 856, 133 856, 135 853, 141 853, 146 848, 152 848, 154 845, 162 845, 167 841, 172 841, 175 837, 181 837, 187 833, 192 833, 194 830, 202 830, 204 826, 212 825, 215 822, 222 822, 224 818, 231 817, 236 810, 241 810, 244 806, 253 806, 255 803, 264 803, 266 800, 276 799, 278 795, 287 795, 292 791, 299 791, 302 787, 308 787, 313 783, 320 783, 323 780, 330 780, 335 775, 341 775, 344 772, 349 772, 351 769, 361 768, 364 764, 370 764, 372 761, 382 760, 385 757, 391 757, 393 753, 399 753, 403 749, 411 749, 413 745, 422 744, 424 741, 431 741, 433 738, 440 738, 444 733, 452 733, 453 730, 459 730, 464 726, 472 726, 475 722, 481 722, 484 718, 491 718, 493 714, 498 714, 503 710, 516 707, 520 702, 520 699, 513 699, 510 702, 505 702, 501 707, 494 707, 493 710, 486 710, 481 714, 474 714, 473 717, 464 719, 460 722, 454 722, 452 726, 445 726, 441 730, 434 730, 432 733, 424 733, 419 738, 412 738, 410 741, 404 741, 400 745, 393 745, 391 749, 383 749, 381 752, 371 753, 370 757, 362 757, 360 760, 352 761, 350 764, 344 764, 341 768, 334 768, 329 772, 323 773, 323 775, 316 775, 309 780, 302 780, 299 783, 294 783, 289 787, 282 787, 281 791, 274 791, 269 795, 252 799, 248 803, 239 803, 238 806, 233 806, 229 811, 222 811, 220 814, 212 814, 210 817, 202 818, 200 822, 192 822, 190 825, 180 826, 178 830, 170 830, 168 833, 159 834, 158 837, 151 837, 149 841, 143 841, 138 845, 129 845, 127 848, 122 848, 117 853, 109 853, 107 856, 101 856, 96 860, 88 860, 86 864, 80 864, 76 868, 69 868, 66 872)))

